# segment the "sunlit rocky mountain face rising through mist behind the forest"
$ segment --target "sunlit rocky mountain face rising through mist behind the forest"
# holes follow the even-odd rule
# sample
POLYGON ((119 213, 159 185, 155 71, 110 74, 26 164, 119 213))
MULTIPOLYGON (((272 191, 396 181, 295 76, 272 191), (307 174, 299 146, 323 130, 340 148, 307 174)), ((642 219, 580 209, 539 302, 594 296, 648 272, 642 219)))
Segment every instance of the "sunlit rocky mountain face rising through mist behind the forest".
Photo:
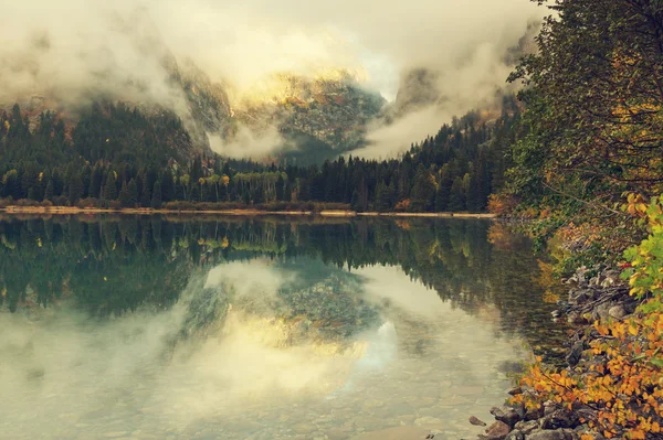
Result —
MULTIPOLYGON (((212 82, 193 63, 179 64, 172 57, 165 63, 173 100, 179 103, 173 108, 113 96, 98 96, 93 101, 119 101, 151 116, 177 114, 194 147, 191 150, 190 144, 182 144, 181 152, 189 157, 196 151, 209 151, 208 136, 232 142, 241 128, 257 136, 276 129, 282 144, 275 146, 271 158, 254 159, 323 162, 360 146, 368 122, 379 115, 385 105, 379 94, 362 89, 355 78, 340 71, 313 78, 275 75, 269 89, 248 97, 235 97, 231 103, 232 87, 212 82)), ((77 109, 62 107, 56 100, 41 95, 19 104, 28 112, 33 127, 45 110, 56 111, 67 126, 74 127, 87 106, 77 109)))

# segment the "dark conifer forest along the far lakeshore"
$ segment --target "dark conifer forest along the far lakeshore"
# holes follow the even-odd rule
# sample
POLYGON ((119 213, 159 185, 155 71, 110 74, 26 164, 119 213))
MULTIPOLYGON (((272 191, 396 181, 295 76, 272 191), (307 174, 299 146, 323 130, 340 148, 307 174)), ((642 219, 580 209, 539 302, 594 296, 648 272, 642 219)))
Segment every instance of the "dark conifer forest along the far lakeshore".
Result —
POLYGON ((52 112, 31 120, 15 105, 0 114, 0 197, 6 205, 114 208, 322 202, 355 211, 484 212, 504 185, 520 119, 514 96, 502 104, 493 120, 470 112, 400 158, 349 155, 311 167, 197 152, 168 112, 103 103, 67 129, 52 112))

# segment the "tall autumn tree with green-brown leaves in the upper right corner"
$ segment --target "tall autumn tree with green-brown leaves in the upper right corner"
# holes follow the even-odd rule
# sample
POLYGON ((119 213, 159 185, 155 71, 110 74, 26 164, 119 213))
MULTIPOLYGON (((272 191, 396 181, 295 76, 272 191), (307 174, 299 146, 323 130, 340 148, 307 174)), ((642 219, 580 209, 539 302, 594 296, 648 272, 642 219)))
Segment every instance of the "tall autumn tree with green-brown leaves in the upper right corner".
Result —
MULTIPOLYGON (((548 3, 535 0, 538 3, 548 3)), ((514 191, 612 202, 663 183, 663 6, 653 0, 559 0, 538 51, 511 81, 526 85, 526 137, 514 191)))

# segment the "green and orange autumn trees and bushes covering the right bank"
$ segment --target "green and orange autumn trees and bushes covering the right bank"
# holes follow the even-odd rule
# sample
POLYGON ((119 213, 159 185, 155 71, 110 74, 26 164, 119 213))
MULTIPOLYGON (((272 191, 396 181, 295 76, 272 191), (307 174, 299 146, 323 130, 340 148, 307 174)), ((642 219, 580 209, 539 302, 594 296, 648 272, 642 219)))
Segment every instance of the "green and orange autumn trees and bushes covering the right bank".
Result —
MULTIPOLYGON (((562 425, 582 440, 661 439, 663 4, 538 3, 550 14, 537 52, 509 77, 523 86, 526 110, 492 211, 526 219, 529 234, 557 249, 558 278, 579 268, 596 281, 612 270, 622 301, 639 305, 622 316, 579 316, 583 325, 569 337, 578 357, 569 350, 564 368, 534 361, 519 380, 527 391, 512 403, 533 411, 557 403, 558 417, 569 417, 562 425)), ((585 304, 596 310, 610 296, 604 288, 585 304)))

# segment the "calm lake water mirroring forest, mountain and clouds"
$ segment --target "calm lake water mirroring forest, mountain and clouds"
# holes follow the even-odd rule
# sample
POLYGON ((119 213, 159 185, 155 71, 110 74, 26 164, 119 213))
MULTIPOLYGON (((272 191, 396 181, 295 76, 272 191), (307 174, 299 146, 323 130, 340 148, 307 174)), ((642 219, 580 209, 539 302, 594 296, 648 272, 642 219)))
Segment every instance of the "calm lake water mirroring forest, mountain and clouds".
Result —
POLYGON ((564 332, 539 258, 490 221, 0 217, 0 437, 473 436, 564 332))

